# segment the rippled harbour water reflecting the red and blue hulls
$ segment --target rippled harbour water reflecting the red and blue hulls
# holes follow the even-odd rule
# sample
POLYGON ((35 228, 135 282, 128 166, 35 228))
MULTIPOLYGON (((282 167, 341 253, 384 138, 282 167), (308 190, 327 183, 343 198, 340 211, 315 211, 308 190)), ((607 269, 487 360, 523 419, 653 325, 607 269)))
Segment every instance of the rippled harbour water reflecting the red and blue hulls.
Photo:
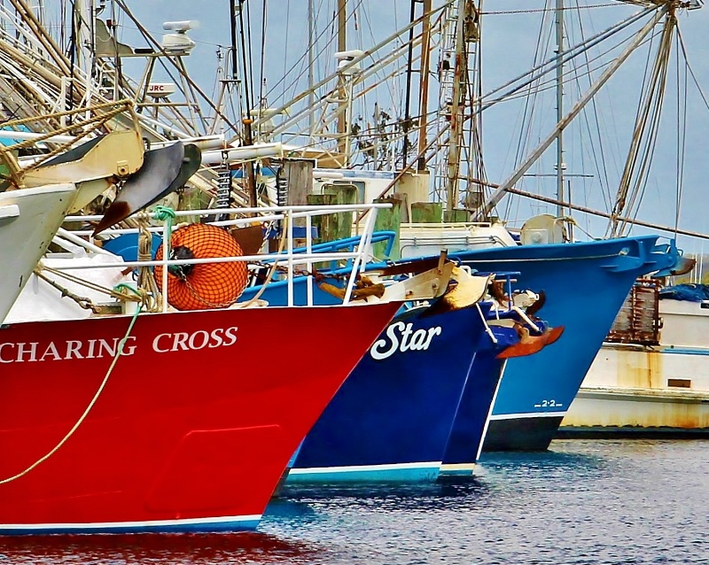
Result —
POLYGON ((289 488, 261 533, 5 538, 8 563, 709 563, 709 442, 555 441, 474 480, 289 488))

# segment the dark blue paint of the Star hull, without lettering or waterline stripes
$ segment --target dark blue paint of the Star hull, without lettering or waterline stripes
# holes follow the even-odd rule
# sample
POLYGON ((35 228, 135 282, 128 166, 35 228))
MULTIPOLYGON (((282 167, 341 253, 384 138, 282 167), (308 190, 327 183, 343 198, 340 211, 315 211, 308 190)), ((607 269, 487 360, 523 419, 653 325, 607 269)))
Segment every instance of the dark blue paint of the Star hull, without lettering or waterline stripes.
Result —
MULTIPOLYGON (((306 437, 293 468, 442 461, 465 383, 489 387, 497 379, 470 374, 484 332, 477 307, 422 313, 393 323, 410 322, 414 331, 440 327, 440 336, 426 351, 397 351, 384 360, 367 353, 306 437)), ((475 399, 471 409, 485 418, 492 398, 475 399)))

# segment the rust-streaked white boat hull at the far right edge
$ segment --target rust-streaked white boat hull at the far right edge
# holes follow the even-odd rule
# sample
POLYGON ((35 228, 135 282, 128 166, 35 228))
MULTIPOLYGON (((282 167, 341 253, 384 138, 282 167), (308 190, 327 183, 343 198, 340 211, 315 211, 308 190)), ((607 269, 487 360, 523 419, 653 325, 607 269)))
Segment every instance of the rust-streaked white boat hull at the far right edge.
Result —
POLYGON ((604 344, 562 422, 561 435, 709 435, 705 306, 660 300, 659 346, 604 344))

